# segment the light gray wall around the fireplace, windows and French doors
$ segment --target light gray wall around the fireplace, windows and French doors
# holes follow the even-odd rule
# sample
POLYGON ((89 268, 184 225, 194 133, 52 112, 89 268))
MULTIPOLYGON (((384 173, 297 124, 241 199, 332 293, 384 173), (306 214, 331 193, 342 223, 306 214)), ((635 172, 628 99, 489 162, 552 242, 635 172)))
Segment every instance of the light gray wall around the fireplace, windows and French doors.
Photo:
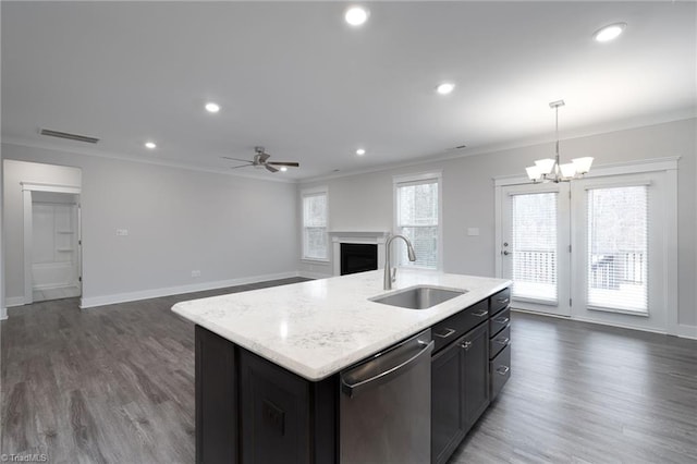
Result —
MULTIPOLYGON (((696 137, 697 120, 637 127, 562 141, 562 159, 594 156, 611 164, 680 156, 678 162, 678 317, 696 326, 696 137)), ((553 155, 553 144, 492 151, 439 162, 394 168, 369 174, 306 182, 329 187, 329 230, 392 230, 392 176, 442 169, 443 270, 494 276, 494 188, 492 178, 522 175, 533 160, 553 155), (467 236, 479 228, 479 236, 467 236)), ((331 262, 301 261, 301 270, 331 274, 331 262)))

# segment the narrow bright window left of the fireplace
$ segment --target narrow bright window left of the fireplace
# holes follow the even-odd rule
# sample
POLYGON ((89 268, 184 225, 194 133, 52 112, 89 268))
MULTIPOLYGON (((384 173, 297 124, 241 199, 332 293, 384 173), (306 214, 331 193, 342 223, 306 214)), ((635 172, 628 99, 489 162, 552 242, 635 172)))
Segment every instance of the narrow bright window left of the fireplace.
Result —
POLYGON ((327 187, 303 191, 303 259, 328 260, 327 187))

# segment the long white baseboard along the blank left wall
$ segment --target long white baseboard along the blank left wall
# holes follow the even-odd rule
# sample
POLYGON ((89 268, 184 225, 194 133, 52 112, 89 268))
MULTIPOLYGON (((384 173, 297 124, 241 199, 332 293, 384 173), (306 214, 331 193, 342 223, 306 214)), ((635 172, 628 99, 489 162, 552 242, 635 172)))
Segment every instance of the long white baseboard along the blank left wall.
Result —
POLYGON ((181 295, 183 293, 204 292, 206 290, 224 289, 225 286, 245 285, 247 283, 266 282, 269 280, 289 279, 298 277, 297 271, 269 273, 262 276, 245 277, 240 279, 218 280, 213 282, 201 282, 188 285, 168 286, 163 289, 143 290, 139 292, 115 293, 103 296, 82 297, 81 309, 95 308, 99 306, 113 305, 118 303, 137 302, 140 300, 159 298, 161 296, 181 295))

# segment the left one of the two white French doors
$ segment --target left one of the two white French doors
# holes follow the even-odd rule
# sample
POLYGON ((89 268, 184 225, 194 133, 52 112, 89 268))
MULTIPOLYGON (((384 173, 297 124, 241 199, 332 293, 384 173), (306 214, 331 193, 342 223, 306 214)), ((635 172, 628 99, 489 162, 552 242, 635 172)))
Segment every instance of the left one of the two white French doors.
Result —
POLYGON ((501 270, 514 307, 570 316, 568 184, 502 188, 501 270))

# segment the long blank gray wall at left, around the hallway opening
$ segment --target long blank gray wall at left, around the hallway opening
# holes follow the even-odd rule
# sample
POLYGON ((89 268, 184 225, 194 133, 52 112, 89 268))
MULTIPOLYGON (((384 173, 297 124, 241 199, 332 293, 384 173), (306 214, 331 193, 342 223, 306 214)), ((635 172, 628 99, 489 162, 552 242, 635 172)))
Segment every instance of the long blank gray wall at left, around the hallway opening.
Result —
MULTIPOLYGON (((84 306, 296 273, 294 184, 20 145, 2 149, 5 159, 82 170, 84 306), (117 236, 117 229, 129 235, 117 236), (192 278, 192 270, 201 276, 192 278)), ((4 191, 7 249, 21 249, 7 227, 14 199, 8 185, 4 191)), ((4 266, 7 297, 21 295, 20 262, 5 256, 4 266)))

